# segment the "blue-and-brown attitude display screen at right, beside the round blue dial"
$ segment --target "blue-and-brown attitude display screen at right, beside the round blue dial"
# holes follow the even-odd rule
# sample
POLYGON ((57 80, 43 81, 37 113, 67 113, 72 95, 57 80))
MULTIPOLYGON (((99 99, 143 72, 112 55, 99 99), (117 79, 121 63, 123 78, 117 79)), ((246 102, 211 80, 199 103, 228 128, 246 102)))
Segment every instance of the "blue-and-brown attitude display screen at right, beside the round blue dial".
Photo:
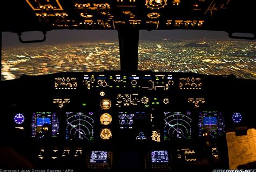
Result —
POLYGON ((199 137, 204 134, 212 138, 218 138, 224 135, 224 118, 221 112, 218 111, 203 111, 199 113, 199 137))

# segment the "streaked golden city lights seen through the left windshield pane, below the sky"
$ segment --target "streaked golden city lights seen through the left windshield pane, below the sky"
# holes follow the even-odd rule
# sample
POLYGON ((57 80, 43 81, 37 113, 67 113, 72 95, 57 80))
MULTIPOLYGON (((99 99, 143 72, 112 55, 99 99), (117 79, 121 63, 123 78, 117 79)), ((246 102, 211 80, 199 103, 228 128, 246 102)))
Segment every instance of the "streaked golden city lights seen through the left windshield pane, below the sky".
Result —
POLYGON ((18 78, 22 74, 117 70, 118 67, 117 42, 2 48, 4 80, 18 78))

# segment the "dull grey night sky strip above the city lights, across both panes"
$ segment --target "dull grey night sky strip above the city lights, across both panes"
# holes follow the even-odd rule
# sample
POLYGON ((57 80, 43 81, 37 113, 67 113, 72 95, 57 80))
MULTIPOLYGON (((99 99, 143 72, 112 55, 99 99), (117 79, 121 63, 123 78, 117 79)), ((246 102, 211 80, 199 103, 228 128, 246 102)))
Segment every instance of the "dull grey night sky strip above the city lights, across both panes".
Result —
MULTIPOLYGON (((141 40, 158 39, 228 39, 223 31, 202 31, 202 30, 142 30, 139 33, 141 40)), ((42 39, 42 32, 24 32, 23 40, 42 39)), ((46 41, 39 44, 60 44, 65 42, 98 42, 118 41, 116 30, 53 30, 46 34, 46 41)), ((2 46, 24 46, 18 40, 17 33, 2 32, 2 46)))

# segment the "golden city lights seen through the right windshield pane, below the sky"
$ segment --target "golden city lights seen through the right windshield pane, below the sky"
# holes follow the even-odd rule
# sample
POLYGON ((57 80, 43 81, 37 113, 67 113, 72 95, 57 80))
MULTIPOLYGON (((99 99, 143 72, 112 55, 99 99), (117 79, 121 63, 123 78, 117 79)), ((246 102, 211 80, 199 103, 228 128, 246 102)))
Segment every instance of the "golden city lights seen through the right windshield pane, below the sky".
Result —
POLYGON ((149 41, 139 47, 139 69, 256 79, 256 42, 149 41))

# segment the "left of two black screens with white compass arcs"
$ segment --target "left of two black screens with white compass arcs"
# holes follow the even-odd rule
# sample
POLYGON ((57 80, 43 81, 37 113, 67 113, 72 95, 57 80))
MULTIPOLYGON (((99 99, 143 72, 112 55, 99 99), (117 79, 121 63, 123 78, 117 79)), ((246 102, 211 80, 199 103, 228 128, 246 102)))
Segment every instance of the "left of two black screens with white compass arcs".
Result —
POLYGON ((93 140, 93 112, 66 112, 66 140, 93 140))

